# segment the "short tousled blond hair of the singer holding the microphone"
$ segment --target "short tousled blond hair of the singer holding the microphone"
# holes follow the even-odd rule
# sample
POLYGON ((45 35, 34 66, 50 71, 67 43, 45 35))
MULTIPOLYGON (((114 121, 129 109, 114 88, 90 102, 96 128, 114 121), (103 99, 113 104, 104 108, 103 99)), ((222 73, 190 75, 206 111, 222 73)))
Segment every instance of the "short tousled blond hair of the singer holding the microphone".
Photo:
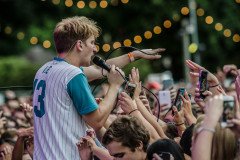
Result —
POLYGON ((84 17, 75 16, 63 19, 54 29, 54 43, 58 53, 68 52, 77 40, 85 42, 89 37, 99 37, 100 27, 96 22, 84 17))

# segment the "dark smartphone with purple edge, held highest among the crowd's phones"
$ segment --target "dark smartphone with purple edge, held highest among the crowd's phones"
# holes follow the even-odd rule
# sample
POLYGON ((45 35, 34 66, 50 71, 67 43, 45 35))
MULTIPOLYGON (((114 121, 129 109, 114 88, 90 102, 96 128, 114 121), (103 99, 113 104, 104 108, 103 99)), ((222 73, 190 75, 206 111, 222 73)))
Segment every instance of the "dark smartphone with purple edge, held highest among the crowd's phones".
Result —
POLYGON ((207 71, 203 71, 203 70, 200 71, 198 88, 200 92, 199 98, 201 99, 204 99, 206 97, 202 93, 208 90, 207 75, 208 75, 207 71))

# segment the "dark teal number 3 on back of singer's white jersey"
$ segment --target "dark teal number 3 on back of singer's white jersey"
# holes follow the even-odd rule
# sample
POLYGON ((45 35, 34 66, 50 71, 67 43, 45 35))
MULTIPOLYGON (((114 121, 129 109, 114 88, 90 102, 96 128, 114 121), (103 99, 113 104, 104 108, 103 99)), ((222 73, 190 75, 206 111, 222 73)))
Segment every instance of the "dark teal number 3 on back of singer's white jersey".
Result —
POLYGON ((37 106, 34 105, 34 113, 37 117, 41 118, 45 114, 44 97, 45 97, 46 82, 44 80, 40 80, 38 83, 38 79, 35 79, 34 91, 40 90, 40 89, 41 89, 41 93, 38 95, 37 106))

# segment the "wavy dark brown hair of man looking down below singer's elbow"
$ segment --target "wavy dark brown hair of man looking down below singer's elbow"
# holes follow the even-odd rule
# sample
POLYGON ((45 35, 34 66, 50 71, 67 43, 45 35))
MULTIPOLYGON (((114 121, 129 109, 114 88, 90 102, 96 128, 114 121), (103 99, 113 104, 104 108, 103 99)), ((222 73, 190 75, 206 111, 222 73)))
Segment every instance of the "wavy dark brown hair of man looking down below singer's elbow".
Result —
POLYGON ((102 143, 110 144, 112 141, 121 142, 123 146, 129 147, 132 152, 143 144, 146 152, 150 140, 150 135, 139 120, 132 116, 122 116, 117 118, 107 129, 103 136, 102 143))

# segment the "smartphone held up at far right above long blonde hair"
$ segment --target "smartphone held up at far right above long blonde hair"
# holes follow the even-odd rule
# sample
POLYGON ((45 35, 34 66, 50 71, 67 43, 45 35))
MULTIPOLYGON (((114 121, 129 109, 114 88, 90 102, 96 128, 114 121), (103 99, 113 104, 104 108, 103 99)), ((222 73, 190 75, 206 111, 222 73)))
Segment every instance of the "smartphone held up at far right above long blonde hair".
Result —
POLYGON ((235 100, 233 96, 223 96, 223 113, 220 118, 221 127, 232 127, 233 124, 228 123, 235 117, 235 100))

